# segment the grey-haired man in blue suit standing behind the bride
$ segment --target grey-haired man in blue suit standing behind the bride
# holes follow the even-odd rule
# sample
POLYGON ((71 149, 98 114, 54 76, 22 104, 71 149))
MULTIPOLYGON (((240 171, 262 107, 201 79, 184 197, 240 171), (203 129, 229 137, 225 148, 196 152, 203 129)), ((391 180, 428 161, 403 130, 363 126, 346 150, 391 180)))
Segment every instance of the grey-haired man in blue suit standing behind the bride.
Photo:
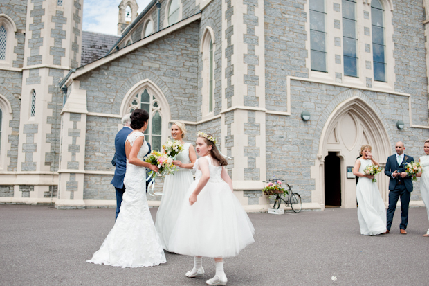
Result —
POLYGON ((110 184, 115 187, 116 190, 116 218, 118 218, 120 204, 122 204, 122 195, 125 193, 124 177, 127 171, 127 154, 125 154, 125 141, 128 135, 133 131, 131 129, 131 114, 127 114, 122 117, 122 125, 124 127, 116 134, 115 137, 115 157, 111 161, 112 165, 115 166, 115 175, 111 180, 110 184))

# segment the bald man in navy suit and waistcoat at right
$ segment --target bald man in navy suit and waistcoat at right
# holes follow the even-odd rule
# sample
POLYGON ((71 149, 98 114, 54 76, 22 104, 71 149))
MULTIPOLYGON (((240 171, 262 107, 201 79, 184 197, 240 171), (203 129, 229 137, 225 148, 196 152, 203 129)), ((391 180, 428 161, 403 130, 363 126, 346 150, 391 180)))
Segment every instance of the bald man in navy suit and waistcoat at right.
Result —
POLYGON ((412 177, 408 176, 405 172, 405 164, 414 161, 414 158, 404 154, 405 145, 402 142, 398 142, 395 145, 396 154, 387 158, 386 168, 384 170, 385 175, 390 177, 389 180, 389 208, 387 208, 387 231, 389 233, 390 226, 392 226, 392 220, 394 211, 396 209, 396 203, 399 197, 401 197, 401 229, 402 234, 407 234, 408 224, 408 206, 410 204, 410 193, 412 192, 412 177))

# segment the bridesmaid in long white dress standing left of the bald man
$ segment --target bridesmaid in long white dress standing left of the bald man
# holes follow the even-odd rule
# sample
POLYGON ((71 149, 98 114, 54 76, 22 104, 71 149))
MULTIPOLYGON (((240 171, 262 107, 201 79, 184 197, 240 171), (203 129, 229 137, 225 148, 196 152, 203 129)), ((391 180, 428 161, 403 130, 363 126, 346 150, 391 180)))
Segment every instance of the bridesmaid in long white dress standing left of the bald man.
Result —
POLYGON ((386 208, 377 184, 372 181, 374 176, 363 172, 367 166, 378 163, 372 157, 371 146, 363 145, 360 154, 362 157, 356 160, 353 168, 353 174, 360 177, 356 185, 360 234, 378 235, 386 232, 386 208))

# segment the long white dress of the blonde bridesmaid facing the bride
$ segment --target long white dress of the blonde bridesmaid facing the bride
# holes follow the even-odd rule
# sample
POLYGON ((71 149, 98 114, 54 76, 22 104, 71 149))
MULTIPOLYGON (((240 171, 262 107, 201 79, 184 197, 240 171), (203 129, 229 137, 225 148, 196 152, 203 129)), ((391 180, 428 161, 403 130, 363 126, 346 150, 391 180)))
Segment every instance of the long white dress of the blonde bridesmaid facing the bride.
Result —
MULTIPOLYGON (((177 155, 176 160, 184 164, 191 162, 189 159, 190 145, 190 143, 183 145, 183 150, 177 155)), ((191 170, 185 168, 178 167, 174 175, 165 176, 163 197, 156 213, 155 227, 163 248, 167 251, 169 251, 168 244, 174 225, 176 225, 177 215, 181 211, 183 199, 185 199, 188 188, 193 181, 194 177, 191 170)))

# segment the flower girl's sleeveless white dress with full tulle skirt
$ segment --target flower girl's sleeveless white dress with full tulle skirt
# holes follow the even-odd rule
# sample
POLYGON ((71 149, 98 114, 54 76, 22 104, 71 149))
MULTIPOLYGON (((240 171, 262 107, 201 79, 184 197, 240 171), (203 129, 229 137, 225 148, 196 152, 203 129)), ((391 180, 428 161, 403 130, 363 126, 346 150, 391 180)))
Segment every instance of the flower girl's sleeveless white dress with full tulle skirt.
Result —
POLYGON ((210 157, 201 157, 194 168, 196 178, 183 199, 168 248, 188 256, 236 256, 255 242, 252 222, 228 184, 221 179, 221 166, 213 166, 210 157), (208 160, 210 179, 191 206, 188 199, 201 178, 198 167, 201 160, 208 160))

